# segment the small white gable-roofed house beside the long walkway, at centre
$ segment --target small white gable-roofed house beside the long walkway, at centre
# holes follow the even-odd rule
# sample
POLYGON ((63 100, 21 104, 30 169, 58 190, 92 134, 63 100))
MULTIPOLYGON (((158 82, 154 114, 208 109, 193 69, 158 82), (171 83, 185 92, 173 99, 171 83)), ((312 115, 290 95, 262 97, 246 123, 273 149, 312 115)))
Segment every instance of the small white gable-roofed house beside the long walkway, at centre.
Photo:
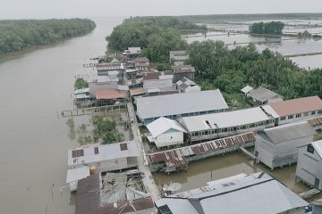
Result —
POLYGON ((148 141, 154 143, 157 147, 170 146, 175 144, 183 144, 184 128, 173 119, 161 117, 147 125, 151 136, 148 141))

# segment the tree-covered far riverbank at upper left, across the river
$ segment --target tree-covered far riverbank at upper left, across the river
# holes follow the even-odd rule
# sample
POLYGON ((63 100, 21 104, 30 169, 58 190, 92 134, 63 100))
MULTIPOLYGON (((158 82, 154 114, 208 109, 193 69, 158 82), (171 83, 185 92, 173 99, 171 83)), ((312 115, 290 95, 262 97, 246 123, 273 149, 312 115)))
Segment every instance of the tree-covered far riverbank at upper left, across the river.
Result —
POLYGON ((0 21, 0 53, 78 37, 95 27, 94 21, 86 19, 0 21))

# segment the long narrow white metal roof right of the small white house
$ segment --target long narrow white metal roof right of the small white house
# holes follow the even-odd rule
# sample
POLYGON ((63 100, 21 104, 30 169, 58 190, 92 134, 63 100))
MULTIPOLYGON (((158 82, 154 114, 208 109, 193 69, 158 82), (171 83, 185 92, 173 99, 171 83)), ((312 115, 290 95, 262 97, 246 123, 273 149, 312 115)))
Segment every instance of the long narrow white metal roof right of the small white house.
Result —
POLYGON ((215 128, 232 128, 266 121, 267 114, 259 107, 239 111, 227 111, 213 114, 198 115, 179 119, 188 131, 201 131, 215 128), (210 126, 210 127, 209 127, 210 126))

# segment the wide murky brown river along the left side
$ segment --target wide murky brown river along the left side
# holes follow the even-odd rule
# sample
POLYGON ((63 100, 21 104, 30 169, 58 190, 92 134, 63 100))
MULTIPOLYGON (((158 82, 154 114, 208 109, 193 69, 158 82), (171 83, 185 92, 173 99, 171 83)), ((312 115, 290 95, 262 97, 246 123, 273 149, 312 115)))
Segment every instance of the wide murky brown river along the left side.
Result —
POLYGON ((60 186, 77 143, 59 112, 72 108, 74 76, 106 51, 123 18, 93 21, 89 35, 0 57, 0 213, 74 213, 74 197, 60 186))

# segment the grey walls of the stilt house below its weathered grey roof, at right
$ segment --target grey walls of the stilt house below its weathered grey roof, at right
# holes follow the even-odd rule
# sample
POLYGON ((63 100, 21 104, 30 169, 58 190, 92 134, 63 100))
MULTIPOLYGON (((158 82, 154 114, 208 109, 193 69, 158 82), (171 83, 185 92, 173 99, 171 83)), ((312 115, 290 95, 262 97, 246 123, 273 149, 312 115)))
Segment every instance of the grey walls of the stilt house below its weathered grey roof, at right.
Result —
POLYGON ((298 147, 311 142, 313 142, 313 136, 305 136, 279 144, 257 136, 255 152, 258 152, 258 161, 263 162, 270 169, 275 169, 297 162, 298 147))

